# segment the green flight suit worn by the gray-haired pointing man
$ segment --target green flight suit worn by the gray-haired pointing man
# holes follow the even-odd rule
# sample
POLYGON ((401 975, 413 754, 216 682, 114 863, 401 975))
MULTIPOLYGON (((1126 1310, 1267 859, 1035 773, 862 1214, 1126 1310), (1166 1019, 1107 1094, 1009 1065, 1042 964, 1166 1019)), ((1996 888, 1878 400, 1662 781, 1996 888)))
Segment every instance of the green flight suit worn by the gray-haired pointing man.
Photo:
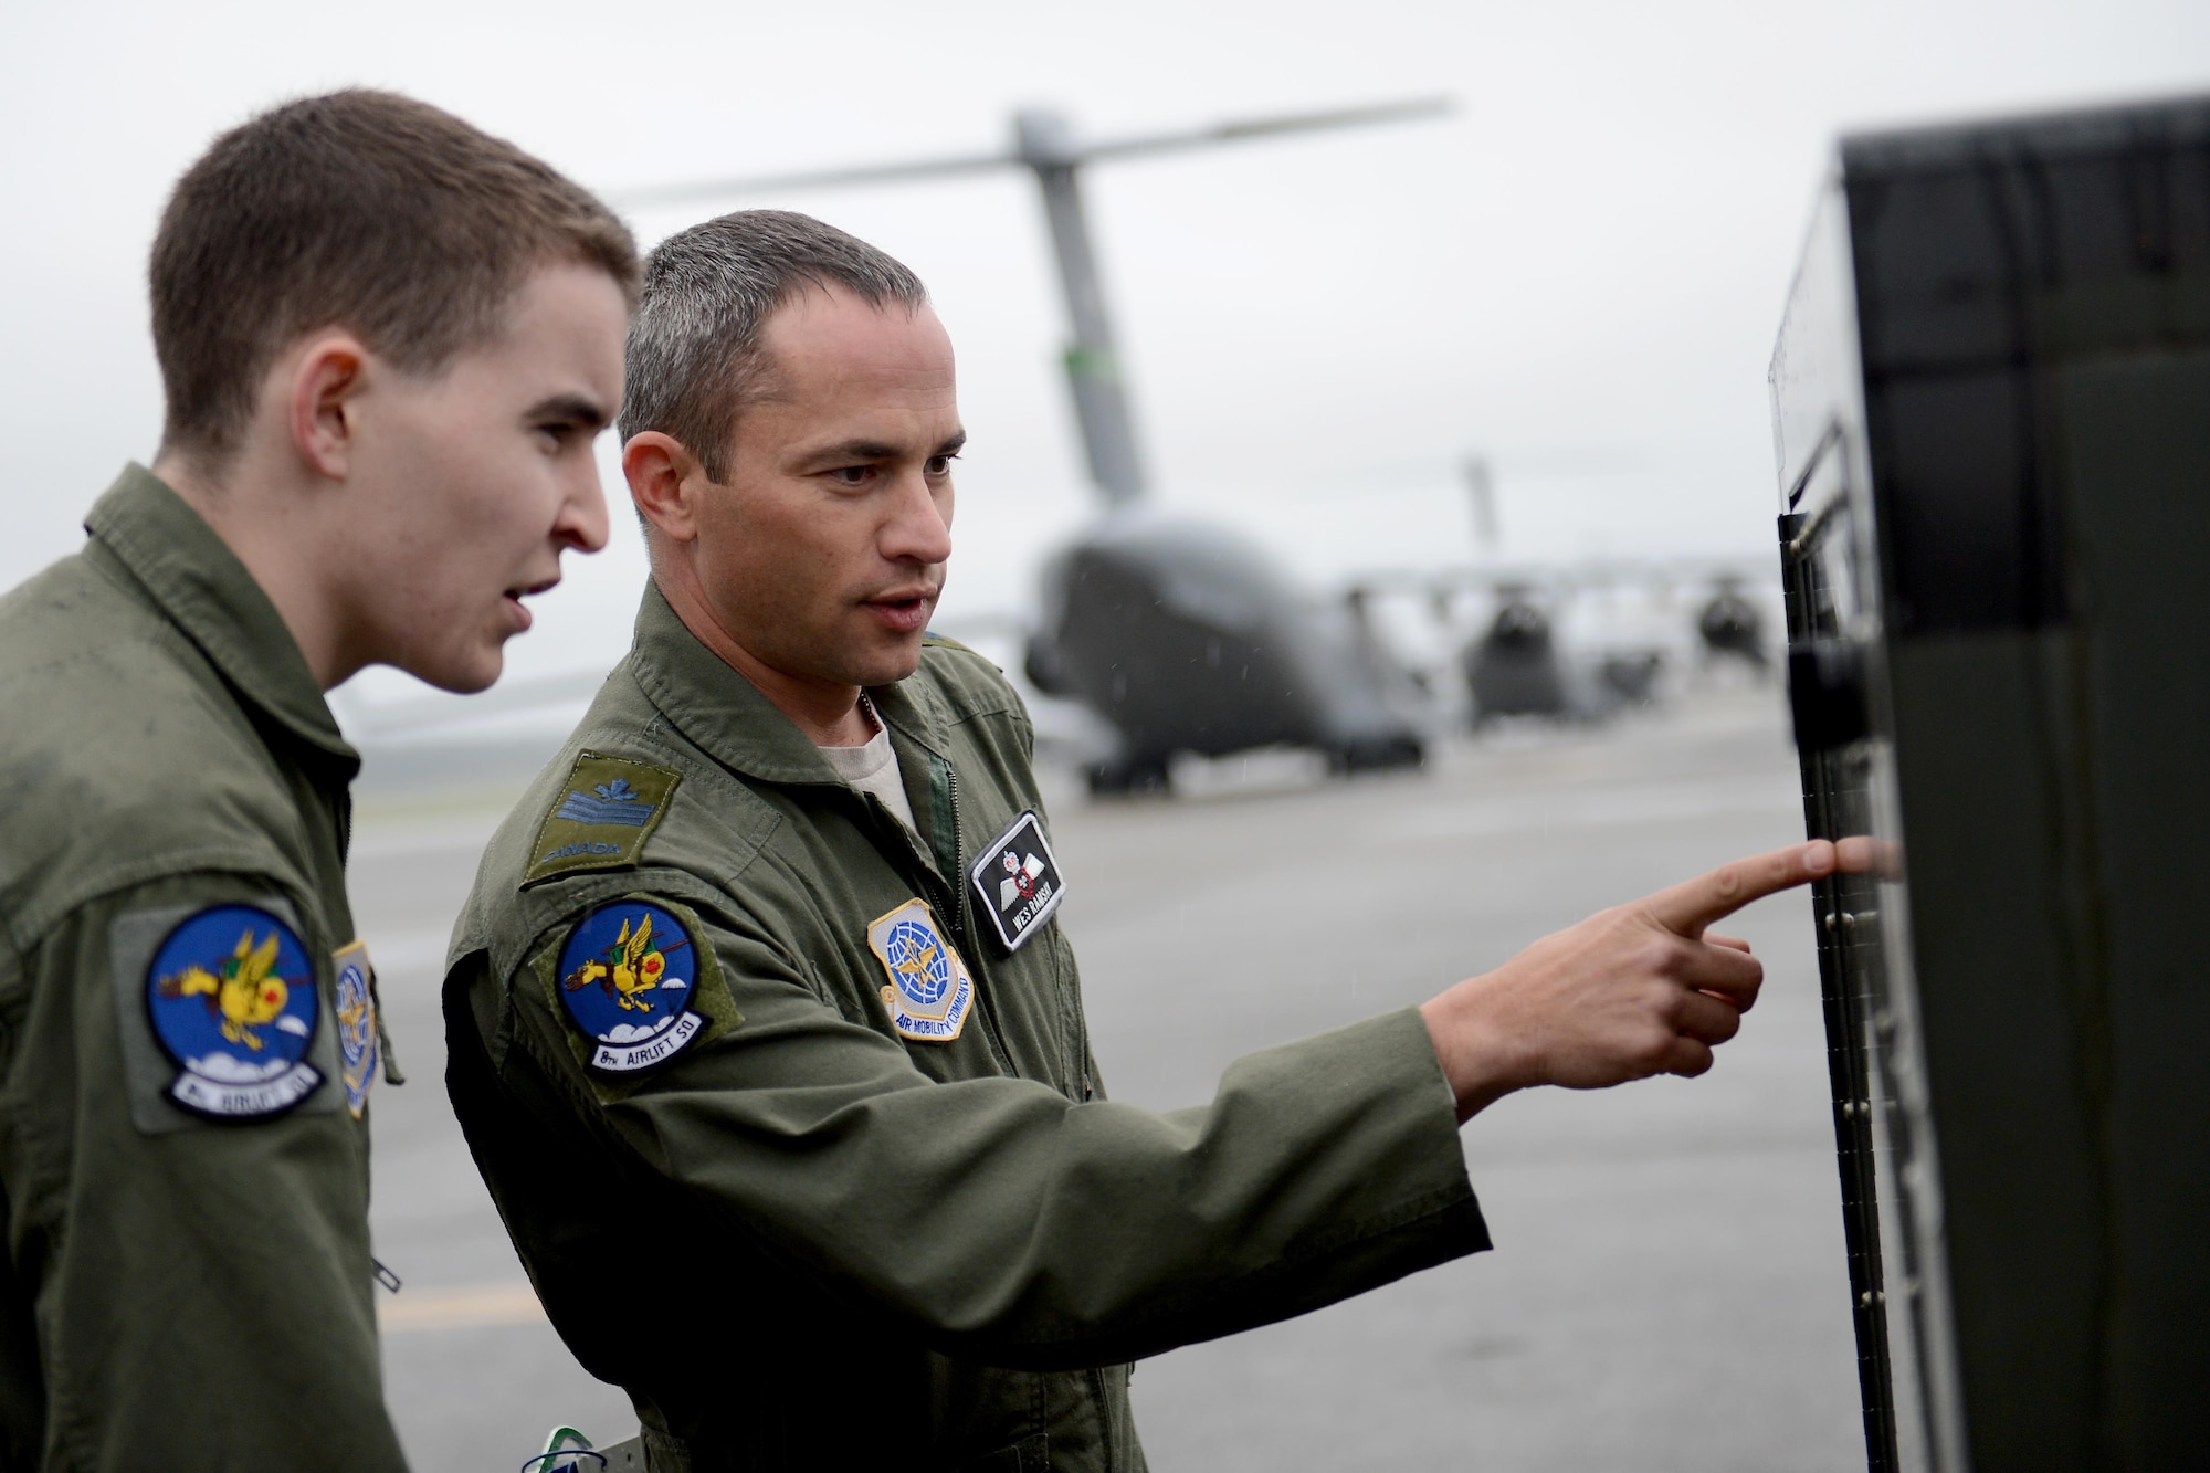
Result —
POLYGON ((873 701, 919 838, 648 588, 455 929, 455 1110, 654 1473, 1143 1469, 1129 1360, 1487 1247, 1412 1011, 1251 1055, 1207 1108, 1107 1104, 1059 922, 1008 951, 966 885, 1043 807, 1019 697, 928 639, 873 701), (645 905, 665 955, 608 975, 645 905), (950 1040, 902 1037, 871 944, 922 905, 972 980, 950 1040), (692 1037, 594 1068, 566 1000, 674 971, 692 1037))

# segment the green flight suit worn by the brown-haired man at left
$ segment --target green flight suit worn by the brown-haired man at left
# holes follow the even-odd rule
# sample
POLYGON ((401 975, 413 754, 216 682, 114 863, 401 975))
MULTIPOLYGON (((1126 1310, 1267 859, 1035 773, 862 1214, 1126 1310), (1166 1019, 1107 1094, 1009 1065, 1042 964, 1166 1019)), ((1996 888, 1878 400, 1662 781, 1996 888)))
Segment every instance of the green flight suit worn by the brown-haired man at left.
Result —
POLYGON ((400 1469, 332 964, 360 759, 175 491, 130 467, 86 531, 0 597, 0 1469, 400 1469), (274 1086, 150 1022, 221 1022, 155 975, 219 907, 287 936, 283 1011, 232 1024, 272 1070, 303 1048, 274 1086))

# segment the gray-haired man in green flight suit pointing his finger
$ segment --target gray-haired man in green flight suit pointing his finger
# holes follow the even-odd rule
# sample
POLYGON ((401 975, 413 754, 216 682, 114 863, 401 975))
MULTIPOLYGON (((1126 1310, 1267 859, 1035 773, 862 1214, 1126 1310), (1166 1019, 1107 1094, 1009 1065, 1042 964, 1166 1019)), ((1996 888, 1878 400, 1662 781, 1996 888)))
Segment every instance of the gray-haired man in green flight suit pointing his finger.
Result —
POLYGON ((1423 1009, 1107 1104, 994 666, 924 635, 964 431, 919 281, 798 215, 652 252, 636 644, 495 836, 449 1086, 552 1323, 672 1469, 1140 1469, 1127 1362, 1487 1247, 1456 1126, 1699 1073, 1744 860, 1423 1009))

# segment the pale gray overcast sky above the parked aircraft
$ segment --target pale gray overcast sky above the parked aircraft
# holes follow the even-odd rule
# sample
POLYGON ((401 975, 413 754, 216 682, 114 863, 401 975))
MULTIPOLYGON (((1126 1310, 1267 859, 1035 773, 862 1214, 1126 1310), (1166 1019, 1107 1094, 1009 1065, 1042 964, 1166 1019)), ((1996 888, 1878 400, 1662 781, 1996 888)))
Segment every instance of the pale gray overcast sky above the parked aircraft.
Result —
MULTIPOLYGON (((2210 88, 2210 4, 11 0, 0 586, 71 551, 115 469, 152 453, 144 257, 170 181, 248 113, 356 82, 601 190, 966 153, 1034 102, 1123 130, 1450 93, 1441 124, 1090 175, 1160 498, 1330 577, 1467 555, 1452 464, 1474 447, 1507 551, 1764 549, 1764 365, 1834 133, 2210 88)), ((950 619, 1021 608, 1087 513, 1032 192, 1008 175, 743 201, 855 230, 937 296, 975 436, 950 619)), ((634 223, 650 241, 736 203, 634 223)), ((625 646, 643 564, 617 529, 513 670, 625 646)))

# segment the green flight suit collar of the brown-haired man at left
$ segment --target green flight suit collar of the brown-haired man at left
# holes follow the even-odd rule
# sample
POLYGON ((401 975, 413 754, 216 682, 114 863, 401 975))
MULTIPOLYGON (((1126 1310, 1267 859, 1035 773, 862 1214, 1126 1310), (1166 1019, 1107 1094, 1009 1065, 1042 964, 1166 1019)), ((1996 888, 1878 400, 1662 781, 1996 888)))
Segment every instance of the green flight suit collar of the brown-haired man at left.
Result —
POLYGON ((340 781, 351 781, 360 754, 338 732, 298 639, 239 555, 181 495, 146 467, 128 464, 93 502, 84 531, 241 699, 338 767, 340 781))

